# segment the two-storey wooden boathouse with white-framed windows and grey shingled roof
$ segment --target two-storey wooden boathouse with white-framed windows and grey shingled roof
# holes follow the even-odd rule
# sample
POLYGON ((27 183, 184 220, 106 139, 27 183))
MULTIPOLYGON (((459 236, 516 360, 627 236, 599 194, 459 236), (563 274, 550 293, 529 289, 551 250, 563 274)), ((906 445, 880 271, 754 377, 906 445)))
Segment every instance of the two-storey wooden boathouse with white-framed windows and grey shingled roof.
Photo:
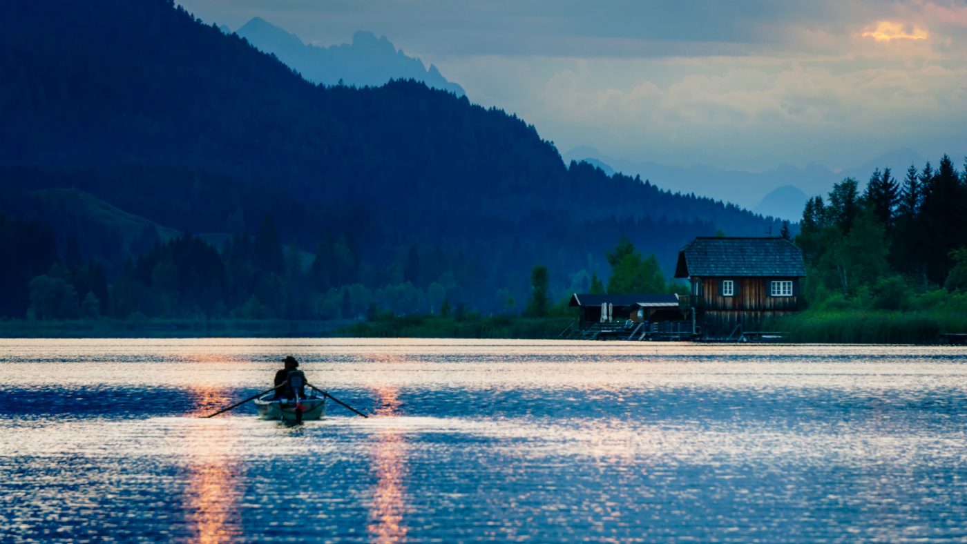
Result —
POLYGON ((782 238, 696 238, 678 253, 675 277, 689 279, 683 309, 705 339, 761 333, 771 318, 802 308, 803 252, 782 238))

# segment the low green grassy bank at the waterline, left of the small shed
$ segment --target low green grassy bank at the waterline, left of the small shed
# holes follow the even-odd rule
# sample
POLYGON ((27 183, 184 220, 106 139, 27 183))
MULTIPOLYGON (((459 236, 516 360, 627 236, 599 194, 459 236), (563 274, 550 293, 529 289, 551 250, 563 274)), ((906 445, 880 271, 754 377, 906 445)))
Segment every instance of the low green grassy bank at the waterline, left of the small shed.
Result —
POLYGON ((337 333, 366 338, 557 338, 573 321, 571 316, 381 316, 344 327, 337 333))

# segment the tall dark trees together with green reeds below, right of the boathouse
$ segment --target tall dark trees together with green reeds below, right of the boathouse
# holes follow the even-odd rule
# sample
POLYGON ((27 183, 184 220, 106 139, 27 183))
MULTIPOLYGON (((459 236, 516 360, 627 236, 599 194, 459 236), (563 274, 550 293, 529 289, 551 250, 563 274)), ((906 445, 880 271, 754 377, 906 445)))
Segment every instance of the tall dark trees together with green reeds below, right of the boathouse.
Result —
POLYGON ((967 332, 967 163, 876 168, 810 198, 796 243, 808 311, 780 327, 812 342, 934 342, 967 332))

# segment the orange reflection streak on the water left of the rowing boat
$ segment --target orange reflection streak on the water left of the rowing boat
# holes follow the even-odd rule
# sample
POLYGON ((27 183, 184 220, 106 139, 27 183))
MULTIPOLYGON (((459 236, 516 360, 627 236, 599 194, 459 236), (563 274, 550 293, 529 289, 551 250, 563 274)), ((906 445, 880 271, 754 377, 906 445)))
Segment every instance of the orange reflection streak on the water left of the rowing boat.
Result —
MULTIPOLYGON (((205 354, 191 360, 226 362, 231 359, 205 354)), ((194 410, 190 416, 200 417, 218 411, 238 399, 225 387, 190 387, 194 397, 194 410)), ((230 451, 235 443, 231 429, 221 421, 191 426, 185 443, 189 460, 189 487, 186 494, 186 510, 192 534, 192 542, 220 543, 238 540, 242 524, 237 504, 240 498, 238 467, 230 451)))

